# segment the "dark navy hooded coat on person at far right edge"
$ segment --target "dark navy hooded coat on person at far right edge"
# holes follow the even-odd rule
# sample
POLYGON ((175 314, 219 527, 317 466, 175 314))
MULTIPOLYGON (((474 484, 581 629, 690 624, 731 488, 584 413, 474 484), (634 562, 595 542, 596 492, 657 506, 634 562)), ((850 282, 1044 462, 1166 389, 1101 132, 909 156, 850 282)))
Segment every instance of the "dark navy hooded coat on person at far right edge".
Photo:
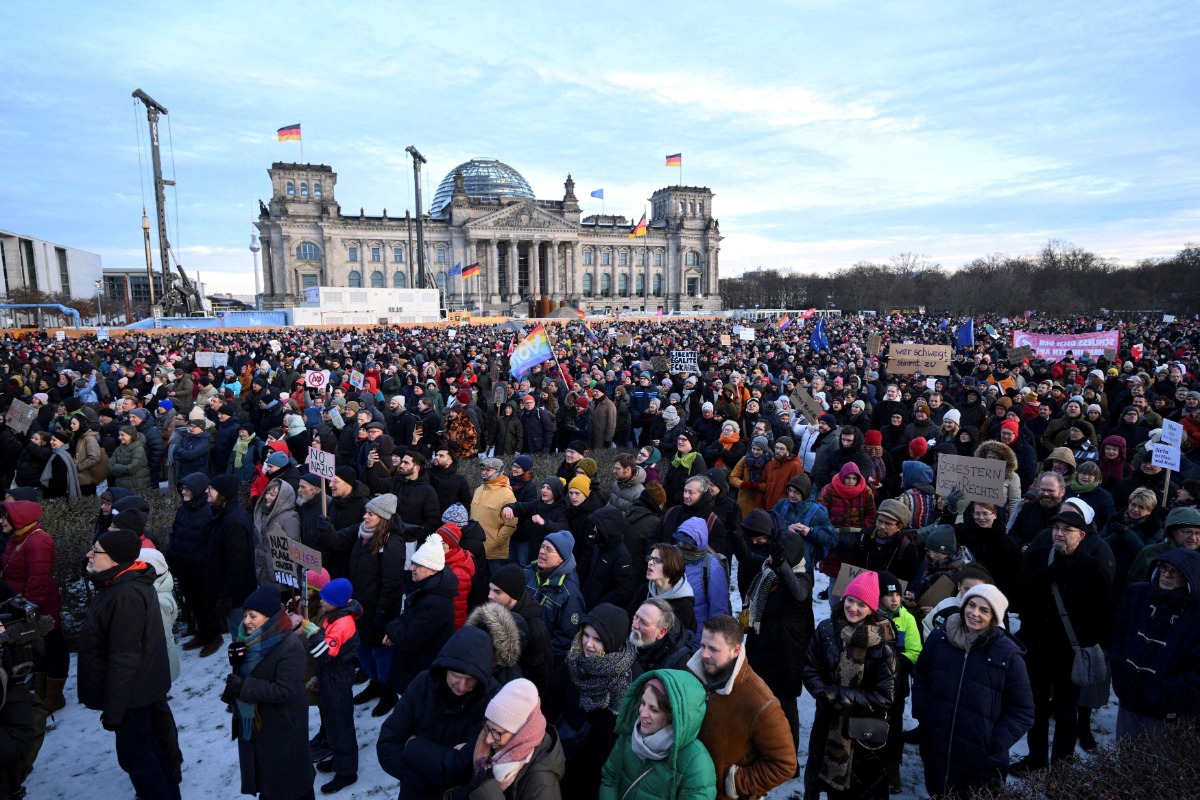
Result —
POLYGON ((1109 648, 1112 690, 1129 711, 1200 717, 1200 553, 1171 548, 1154 559, 1151 575, 1159 561, 1180 570, 1192 590, 1129 587, 1109 648))

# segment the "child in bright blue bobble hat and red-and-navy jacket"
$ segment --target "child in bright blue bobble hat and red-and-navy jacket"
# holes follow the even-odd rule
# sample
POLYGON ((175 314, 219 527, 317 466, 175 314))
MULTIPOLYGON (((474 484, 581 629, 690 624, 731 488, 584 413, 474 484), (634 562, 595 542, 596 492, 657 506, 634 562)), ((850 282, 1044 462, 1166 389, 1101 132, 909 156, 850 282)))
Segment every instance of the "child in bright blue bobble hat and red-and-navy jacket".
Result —
POLYGON ((359 740, 354 732, 354 668, 359 651, 355 619, 362 607, 350 595, 354 588, 337 578, 320 590, 320 609, 325 618, 318 626, 301 626, 308 652, 317 661, 317 687, 320 692, 320 733, 332 756, 317 764, 322 772, 334 772, 334 780, 320 787, 324 794, 340 792, 359 780, 359 740))

